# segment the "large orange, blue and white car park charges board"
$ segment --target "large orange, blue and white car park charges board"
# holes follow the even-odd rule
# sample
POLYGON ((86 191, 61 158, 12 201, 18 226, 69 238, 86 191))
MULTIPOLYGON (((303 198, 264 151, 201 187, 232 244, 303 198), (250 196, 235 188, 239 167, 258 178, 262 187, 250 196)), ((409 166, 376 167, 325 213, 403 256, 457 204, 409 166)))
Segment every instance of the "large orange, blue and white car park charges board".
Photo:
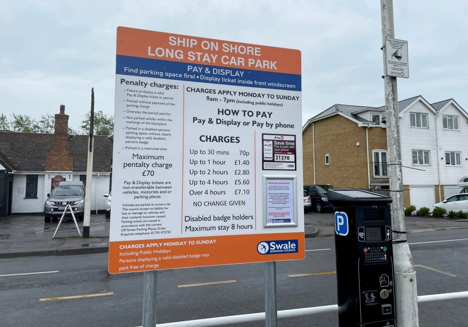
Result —
POLYGON ((109 272, 302 259, 301 53, 117 28, 109 272))

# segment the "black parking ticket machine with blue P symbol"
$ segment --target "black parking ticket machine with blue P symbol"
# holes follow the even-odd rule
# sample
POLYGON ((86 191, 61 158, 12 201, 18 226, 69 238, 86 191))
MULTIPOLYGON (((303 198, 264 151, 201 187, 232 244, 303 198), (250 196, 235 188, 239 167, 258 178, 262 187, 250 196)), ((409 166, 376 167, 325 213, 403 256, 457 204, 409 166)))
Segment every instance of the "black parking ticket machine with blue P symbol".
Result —
POLYGON ((396 327, 391 198, 329 189, 335 220, 340 327, 396 327))

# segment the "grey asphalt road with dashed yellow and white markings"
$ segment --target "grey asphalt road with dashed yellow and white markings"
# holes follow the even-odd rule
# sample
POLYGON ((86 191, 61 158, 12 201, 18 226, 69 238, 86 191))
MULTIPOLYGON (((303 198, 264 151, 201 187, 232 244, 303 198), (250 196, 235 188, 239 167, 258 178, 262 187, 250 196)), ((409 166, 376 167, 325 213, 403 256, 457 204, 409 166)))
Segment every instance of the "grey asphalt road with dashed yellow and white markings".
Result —
MULTIPOLYGON (((408 240, 418 295, 467 291, 467 229, 408 240)), ((333 237, 306 239, 306 249, 304 260, 276 263, 278 310, 336 304, 333 237)), ((142 276, 107 273, 107 254, 1 259, 1 326, 141 326, 142 276)), ((467 307, 468 299, 421 303, 420 326, 466 327, 467 307)), ((158 323, 263 311, 263 263, 158 272, 158 323)), ((331 312, 281 319, 279 326, 338 326, 338 318, 331 312)))

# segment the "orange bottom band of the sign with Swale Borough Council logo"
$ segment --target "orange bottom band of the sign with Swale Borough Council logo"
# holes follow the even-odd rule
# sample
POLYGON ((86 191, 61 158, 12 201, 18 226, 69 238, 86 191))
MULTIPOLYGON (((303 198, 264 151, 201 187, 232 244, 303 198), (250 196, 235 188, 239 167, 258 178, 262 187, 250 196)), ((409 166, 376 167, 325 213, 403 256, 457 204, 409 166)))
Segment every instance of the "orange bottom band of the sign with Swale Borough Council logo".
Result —
POLYGON ((109 273, 298 260, 304 233, 199 236, 109 243, 109 273))

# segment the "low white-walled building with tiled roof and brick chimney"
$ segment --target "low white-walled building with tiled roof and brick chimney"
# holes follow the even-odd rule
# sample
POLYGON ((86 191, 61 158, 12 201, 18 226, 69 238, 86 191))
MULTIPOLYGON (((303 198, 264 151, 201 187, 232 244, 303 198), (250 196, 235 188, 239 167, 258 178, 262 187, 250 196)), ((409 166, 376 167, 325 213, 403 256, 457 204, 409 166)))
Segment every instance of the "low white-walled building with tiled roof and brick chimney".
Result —
MULTIPOLYGON (((0 131, 0 216, 42 214, 54 184, 88 182, 88 135, 68 135, 65 106, 55 119, 54 134, 0 131)), ((92 191, 86 195, 92 213, 105 210, 112 148, 111 138, 94 136, 92 191)))

